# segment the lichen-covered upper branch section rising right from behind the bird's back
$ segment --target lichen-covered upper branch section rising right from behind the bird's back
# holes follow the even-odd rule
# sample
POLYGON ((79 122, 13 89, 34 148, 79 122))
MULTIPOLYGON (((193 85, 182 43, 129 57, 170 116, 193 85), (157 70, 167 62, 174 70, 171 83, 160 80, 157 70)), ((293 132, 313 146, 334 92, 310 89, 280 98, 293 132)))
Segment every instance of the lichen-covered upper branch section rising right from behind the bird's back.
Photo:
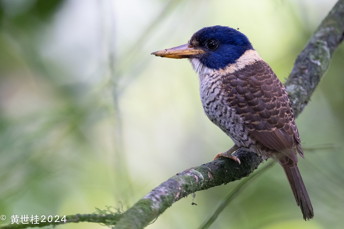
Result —
POLYGON ((310 101, 343 38, 344 1, 339 0, 296 58, 294 68, 285 83, 295 118, 310 101))

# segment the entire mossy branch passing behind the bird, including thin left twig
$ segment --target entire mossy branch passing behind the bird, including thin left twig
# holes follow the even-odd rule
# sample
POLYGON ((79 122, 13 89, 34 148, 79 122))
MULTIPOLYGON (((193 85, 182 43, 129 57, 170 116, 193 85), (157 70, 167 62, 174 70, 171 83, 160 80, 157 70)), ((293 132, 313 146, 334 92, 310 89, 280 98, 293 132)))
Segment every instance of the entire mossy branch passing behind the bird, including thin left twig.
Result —
MULTIPOLYGON (((309 102, 312 93, 329 67, 334 51, 343 41, 343 38, 344 0, 339 0, 295 60, 294 68, 285 84, 295 118, 309 102)), ((101 222, 107 225, 116 225, 116 229, 144 228, 179 199, 196 191, 249 176, 262 162, 257 154, 243 148, 238 149, 235 156, 240 159, 240 165, 233 160, 219 158, 174 175, 141 198, 125 213, 115 215, 77 214, 67 216, 67 222, 101 222)), ((43 226, 53 224, 52 222, 43 226)), ((30 224, 8 224, 0 226, 0 229, 28 227, 30 224)))

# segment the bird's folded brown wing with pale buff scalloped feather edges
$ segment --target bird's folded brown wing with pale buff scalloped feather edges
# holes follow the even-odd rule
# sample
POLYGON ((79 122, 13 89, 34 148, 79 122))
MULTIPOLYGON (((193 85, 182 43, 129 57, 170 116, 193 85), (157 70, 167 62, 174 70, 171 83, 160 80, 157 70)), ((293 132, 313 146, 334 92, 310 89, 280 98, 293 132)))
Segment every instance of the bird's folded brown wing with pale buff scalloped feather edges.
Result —
POLYGON ((288 94, 270 66, 257 61, 223 77, 227 102, 249 123, 250 135, 262 145, 297 161, 302 155, 288 94))

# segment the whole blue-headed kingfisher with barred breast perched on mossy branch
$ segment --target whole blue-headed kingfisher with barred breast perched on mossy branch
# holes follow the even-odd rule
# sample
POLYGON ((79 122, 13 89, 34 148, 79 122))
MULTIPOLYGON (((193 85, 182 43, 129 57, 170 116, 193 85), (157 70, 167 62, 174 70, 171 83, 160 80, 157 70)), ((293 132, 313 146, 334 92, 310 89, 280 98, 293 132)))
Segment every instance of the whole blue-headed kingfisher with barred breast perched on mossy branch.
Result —
POLYGON ((297 167, 303 151, 286 89, 261 59, 247 36, 227 26, 204 27, 187 44, 152 53, 188 58, 198 73, 206 116, 234 142, 219 157, 240 164, 232 153, 244 147, 282 166, 303 219, 313 218, 313 207, 297 167))

